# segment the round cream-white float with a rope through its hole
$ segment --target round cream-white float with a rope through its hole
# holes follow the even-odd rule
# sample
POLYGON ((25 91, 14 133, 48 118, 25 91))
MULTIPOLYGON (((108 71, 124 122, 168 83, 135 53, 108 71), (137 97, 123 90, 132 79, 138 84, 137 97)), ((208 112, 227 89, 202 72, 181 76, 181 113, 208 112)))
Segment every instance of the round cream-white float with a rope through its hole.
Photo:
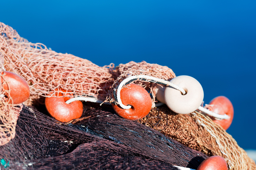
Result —
POLYGON ((186 94, 166 86, 164 98, 170 110, 179 114, 189 114, 195 111, 203 102, 204 91, 201 84, 191 76, 177 76, 170 80, 171 83, 183 88, 186 94))

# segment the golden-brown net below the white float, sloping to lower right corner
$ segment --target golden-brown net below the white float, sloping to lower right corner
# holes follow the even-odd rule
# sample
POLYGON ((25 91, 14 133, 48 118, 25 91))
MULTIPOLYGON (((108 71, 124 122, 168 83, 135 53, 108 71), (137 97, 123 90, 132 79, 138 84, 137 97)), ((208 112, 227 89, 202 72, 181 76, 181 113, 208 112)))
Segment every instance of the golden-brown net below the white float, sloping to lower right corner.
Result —
POLYGON ((256 169, 255 162, 237 145, 235 139, 200 112, 176 114, 167 106, 162 106, 152 109, 138 122, 208 156, 222 156, 229 169, 256 169))

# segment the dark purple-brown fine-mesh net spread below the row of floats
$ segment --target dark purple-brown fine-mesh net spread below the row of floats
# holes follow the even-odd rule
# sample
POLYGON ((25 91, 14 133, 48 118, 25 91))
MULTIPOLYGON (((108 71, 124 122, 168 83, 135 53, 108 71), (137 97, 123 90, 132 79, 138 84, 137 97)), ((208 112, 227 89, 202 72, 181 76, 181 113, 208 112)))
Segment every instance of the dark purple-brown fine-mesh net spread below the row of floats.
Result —
POLYGON ((68 125, 23 106, 15 138, 0 146, 0 159, 10 161, 9 169, 150 169, 142 166, 148 161, 155 169, 196 169, 207 158, 143 124, 104 111, 111 108, 86 104, 94 110, 92 117, 68 125))

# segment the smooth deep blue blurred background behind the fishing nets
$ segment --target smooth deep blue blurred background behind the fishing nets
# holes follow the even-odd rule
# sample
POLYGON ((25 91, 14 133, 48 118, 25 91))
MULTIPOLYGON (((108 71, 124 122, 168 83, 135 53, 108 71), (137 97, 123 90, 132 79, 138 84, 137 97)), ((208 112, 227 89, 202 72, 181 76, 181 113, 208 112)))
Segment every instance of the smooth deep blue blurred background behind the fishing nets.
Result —
POLYGON ((256 1, 1 1, 0 21, 43 43, 104 66, 157 63, 196 78, 204 101, 227 96, 227 130, 256 149, 256 1))

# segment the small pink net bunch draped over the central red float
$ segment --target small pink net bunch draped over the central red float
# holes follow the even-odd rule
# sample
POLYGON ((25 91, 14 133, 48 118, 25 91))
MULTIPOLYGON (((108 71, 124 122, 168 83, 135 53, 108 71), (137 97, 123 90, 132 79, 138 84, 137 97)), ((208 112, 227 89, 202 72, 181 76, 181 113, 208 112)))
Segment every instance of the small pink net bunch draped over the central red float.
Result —
MULTIPOLYGON (((155 78, 164 79, 164 80, 171 80, 172 78, 176 77, 172 69, 167 66, 160 66, 158 64, 150 64, 145 61, 140 63, 129 62, 127 64, 119 64, 112 71, 112 74, 117 77, 114 81, 114 84, 109 91, 109 96, 106 98, 105 102, 113 102, 114 99, 112 98, 113 90, 116 90, 117 86, 127 77, 134 76, 134 75, 148 75, 153 76, 155 78)), ((155 90, 156 85, 155 83, 150 83, 147 81, 136 80, 136 84, 144 87, 152 96, 152 104, 154 106, 155 102, 155 90)))

